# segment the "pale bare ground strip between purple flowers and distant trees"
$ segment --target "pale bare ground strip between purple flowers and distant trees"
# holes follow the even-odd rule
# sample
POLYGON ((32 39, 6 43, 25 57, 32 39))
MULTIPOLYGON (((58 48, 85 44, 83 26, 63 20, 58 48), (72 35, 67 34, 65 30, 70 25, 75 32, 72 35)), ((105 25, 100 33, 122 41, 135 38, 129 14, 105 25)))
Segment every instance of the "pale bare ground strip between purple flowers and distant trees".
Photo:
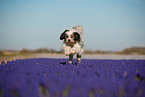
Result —
MULTIPOLYGON (((0 56, 0 63, 4 61, 12 61, 16 59, 26 59, 26 58, 68 58, 64 54, 33 54, 33 55, 16 55, 16 56, 0 56)), ((74 59, 76 59, 76 55, 74 55, 74 59)), ((138 55, 138 54, 130 54, 130 55, 119 55, 119 54, 84 54, 82 59, 113 59, 113 60, 120 60, 120 59, 134 59, 134 60, 145 60, 145 55, 138 55)))

